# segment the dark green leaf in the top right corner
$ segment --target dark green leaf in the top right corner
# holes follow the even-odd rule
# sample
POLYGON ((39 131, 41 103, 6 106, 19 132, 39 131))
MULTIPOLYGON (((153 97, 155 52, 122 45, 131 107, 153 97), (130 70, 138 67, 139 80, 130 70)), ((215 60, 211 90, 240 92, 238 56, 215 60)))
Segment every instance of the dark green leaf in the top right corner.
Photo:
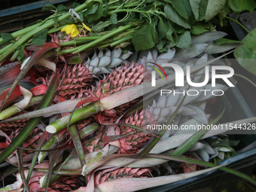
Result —
POLYGON ((256 8, 256 2, 254 0, 232 0, 229 1, 230 8, 236 12, 250 11, 251 13, 256 8))

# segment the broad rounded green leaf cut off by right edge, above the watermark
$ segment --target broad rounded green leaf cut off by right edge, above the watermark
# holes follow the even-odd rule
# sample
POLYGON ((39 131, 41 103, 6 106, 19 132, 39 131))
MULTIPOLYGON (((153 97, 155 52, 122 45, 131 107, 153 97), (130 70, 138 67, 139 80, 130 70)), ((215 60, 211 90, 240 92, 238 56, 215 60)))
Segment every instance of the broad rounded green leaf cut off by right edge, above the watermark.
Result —
POLYGON ((256 75, 256 29, 251 32, 251 35, 246 35, 242 43, 243 45, 237 47, 234 51, 234 56, 244 69, 256 75))

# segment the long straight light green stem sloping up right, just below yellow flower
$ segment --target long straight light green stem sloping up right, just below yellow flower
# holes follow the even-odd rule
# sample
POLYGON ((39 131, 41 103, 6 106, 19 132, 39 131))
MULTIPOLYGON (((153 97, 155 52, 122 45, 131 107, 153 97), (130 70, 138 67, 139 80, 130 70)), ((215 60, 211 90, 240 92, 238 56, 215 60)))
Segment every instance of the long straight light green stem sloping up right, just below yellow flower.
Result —
POLYGON ((104 40, 106 40, 108 38, 111 38, 112 36, 118 34, 119 32, 123 32, 124 30, 129 29, 131 27, 132 27, 132 25, 128 24, 126 26, 121 27, 120 29, 116 29, 116 30, 114 30, 114 32, 110 32, 107 35, 102 36, 102 38, 99 38, 99 39, 97 39, 95 41, 92 41, 89 44, 84 44, 83 47, 81 47, 78 50, 76 50, 75 53, 80 53, 83 50, 87 50, 88 48, 93 47, 96 44, 99 44, 100 42, 102 42, 102 41, 104 41, 104 40))

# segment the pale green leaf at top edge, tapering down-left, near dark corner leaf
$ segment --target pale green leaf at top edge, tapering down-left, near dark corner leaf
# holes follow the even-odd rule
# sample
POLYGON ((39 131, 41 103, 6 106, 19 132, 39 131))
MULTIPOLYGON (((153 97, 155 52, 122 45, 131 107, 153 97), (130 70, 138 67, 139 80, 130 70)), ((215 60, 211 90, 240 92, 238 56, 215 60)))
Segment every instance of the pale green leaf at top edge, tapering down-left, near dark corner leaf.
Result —
POLYGON ((206 15, 203 19, 206 21, 212 20, 224 8, 225 3, 226 0, 209 0, 206 15))

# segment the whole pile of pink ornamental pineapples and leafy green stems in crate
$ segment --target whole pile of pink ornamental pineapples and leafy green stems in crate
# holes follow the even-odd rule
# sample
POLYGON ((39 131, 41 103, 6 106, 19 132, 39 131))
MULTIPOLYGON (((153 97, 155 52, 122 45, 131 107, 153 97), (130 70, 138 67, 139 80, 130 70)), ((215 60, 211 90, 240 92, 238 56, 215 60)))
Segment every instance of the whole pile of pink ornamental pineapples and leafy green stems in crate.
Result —
POLYGON ((227 85, 188 94, 227 55, 211 54, 239 46, 215 43, 220 2, 46 5, 52 16, 2 33, 0 162, 17 181, 0 191, 136 191, 216 169, 256 184, 215 164, 236 153, 227 130, 198 129, 223 116, 210 108, 227 85), (190 70, 183 87, 163 63, 190 70))

